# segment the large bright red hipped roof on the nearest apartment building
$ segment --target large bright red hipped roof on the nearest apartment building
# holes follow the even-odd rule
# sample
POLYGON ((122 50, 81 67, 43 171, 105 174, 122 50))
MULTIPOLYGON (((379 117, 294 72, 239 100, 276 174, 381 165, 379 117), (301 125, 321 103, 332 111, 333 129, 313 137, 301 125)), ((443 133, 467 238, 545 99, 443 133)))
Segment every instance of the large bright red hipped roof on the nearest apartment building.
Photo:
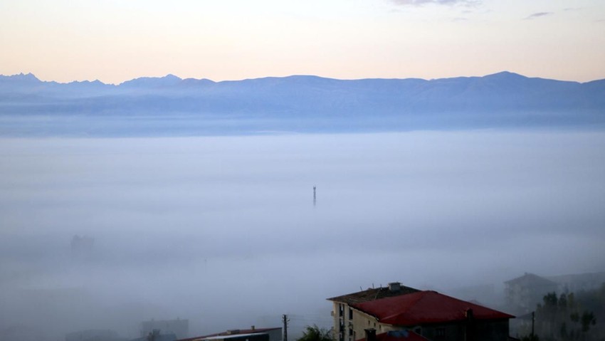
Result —
POLYGON ((456 322, 466 319, 466 311, 473 310, 475 320, 500 320, 515 318, 498 310, 458 300, 437 293, 420 291, 407 295, 382 298, 352 305, 389 325, 421 325, 426 323, 456 322))

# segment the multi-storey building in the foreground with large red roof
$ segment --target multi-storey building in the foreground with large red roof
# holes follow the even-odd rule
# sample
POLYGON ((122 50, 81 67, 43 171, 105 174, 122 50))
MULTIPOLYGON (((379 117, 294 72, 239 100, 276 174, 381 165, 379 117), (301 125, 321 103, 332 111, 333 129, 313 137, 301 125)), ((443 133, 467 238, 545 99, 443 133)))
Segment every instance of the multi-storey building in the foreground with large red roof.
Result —
POLYGON ((407 333, 435 341, 505 341, 508 340, 509 320, 514 318, 475 303, 436 291, 409 288, 401 283, 328 300, 333 302, 337 341, 359 340, 368 329, 374 329, 377 337, 380 335, 389 340, 405 340, 403 336, 407 333))

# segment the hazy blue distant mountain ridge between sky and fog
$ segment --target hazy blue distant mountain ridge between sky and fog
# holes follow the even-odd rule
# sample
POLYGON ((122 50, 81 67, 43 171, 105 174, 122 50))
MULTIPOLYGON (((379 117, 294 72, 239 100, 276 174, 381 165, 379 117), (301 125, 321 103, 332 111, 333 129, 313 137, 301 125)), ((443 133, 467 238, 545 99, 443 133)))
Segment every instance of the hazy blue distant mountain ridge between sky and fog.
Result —
POLYGON ((604 116, 605 80, 579 83, 507 71, 433 80, 292 75, 214 82, 166 75, 120 85, 0 75, 1 135, 600 129, 604 116))

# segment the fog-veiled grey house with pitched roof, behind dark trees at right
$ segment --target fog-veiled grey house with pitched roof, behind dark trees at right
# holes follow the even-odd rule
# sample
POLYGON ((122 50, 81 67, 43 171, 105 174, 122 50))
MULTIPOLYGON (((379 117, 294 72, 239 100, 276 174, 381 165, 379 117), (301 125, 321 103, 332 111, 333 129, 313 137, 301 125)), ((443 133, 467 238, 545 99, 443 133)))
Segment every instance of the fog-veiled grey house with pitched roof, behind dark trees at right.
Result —
POLYGON ((507 280, 505 283, 506 305, 517 314, 529 313, 547 293, 557 292, 559 284, 533 273, 507 280))

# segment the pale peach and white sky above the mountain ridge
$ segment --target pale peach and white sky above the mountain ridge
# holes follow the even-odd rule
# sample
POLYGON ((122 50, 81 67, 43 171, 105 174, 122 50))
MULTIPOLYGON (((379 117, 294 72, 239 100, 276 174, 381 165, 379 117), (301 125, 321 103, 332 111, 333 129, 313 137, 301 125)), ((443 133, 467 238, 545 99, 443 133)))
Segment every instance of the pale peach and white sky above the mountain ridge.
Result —
POLYGON ((0 74, 605 78, 601 0, 0 0, 0 74))

